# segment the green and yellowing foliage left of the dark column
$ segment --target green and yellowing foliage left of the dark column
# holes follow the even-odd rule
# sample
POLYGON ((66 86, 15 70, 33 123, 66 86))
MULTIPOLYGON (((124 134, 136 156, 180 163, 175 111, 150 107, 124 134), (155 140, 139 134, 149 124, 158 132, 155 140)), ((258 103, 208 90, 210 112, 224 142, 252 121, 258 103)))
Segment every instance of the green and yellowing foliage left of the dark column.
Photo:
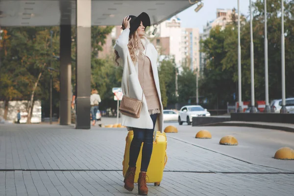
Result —
MULTIPOLYGON (((58 27, 17 27, 5 28, 8 39, 1 41, 1 98, 5 100, 28 100, 39 73, 43 74, 44 82, 49 78, 47 67, 58 68, 56 61, 50 65, 50 30, 55 32, 53 37, 53 53, 56 46, 58 27), (6 43, 5 43, 6 42, 6 43), (3 49, 4 48, 4 49, 3 49)), ((59 45, 59 43, 58 43, 59 45)), ((57 77, 57 73, 52 73, 57 77)), ((59 81, 54 80, 55 87, 59 81)), ((36 94, 39 98, 46 98, 47 92, 43 85, 38 85, 36 94)), ((59 90, 59 87, 58 89, 59 90)))

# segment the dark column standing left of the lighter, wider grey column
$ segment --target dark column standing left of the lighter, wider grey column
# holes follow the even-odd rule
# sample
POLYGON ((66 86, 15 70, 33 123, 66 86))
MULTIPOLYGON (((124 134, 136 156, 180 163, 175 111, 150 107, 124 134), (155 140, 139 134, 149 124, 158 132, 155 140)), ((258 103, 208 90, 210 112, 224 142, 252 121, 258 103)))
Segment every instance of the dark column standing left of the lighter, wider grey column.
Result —
POLYGON ((72 29, 71 2, 60 1, 60 124, 71 124, 72 29), (65 10, 68 10, 65 12, 65 10))

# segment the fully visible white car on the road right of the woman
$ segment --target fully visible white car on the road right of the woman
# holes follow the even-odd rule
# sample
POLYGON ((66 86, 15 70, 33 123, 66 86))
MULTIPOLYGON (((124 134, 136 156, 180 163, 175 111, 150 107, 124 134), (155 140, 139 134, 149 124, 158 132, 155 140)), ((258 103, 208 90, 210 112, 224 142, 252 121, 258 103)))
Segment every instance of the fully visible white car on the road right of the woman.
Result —
POLYGON ((182 125, 184 122, 187 122, 189 125, 192 123, 193 117, 209 117, 210 113, 207 109, 204 109, 200 105, 186 105, 181 108, 178 122, 182 125))

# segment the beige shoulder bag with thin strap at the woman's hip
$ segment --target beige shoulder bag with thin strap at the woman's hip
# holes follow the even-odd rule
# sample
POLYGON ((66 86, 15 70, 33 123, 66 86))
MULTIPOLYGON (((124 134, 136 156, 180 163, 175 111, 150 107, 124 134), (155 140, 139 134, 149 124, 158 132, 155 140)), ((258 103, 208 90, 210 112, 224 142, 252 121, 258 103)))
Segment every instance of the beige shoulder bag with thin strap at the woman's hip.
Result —
POLYGON ((143 91, 144 91, 144 77, 145 77, 145 58, 146 58, 147 47, 145 50, 144 56, 144 63, 143 63, 143 88, 142 88, 142 99, 138 100, 135 98, 129 98, 123 96, 121 105, 120 105, 120 112, 126 116, 133 117, 133 118, 140 118, 142 104, 143 104, 143 91))

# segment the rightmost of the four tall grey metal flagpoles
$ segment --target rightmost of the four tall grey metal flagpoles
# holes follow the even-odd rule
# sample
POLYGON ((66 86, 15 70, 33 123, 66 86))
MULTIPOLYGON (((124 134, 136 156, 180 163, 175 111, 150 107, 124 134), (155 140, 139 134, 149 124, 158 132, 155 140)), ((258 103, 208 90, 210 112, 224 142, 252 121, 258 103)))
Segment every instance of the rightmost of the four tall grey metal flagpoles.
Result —
POLYGON ((284 35, 284 0, 282 0, 282 108, 280 113, 287 113, 286 109, 286 84, 285 84, 285 35, 284 35))

